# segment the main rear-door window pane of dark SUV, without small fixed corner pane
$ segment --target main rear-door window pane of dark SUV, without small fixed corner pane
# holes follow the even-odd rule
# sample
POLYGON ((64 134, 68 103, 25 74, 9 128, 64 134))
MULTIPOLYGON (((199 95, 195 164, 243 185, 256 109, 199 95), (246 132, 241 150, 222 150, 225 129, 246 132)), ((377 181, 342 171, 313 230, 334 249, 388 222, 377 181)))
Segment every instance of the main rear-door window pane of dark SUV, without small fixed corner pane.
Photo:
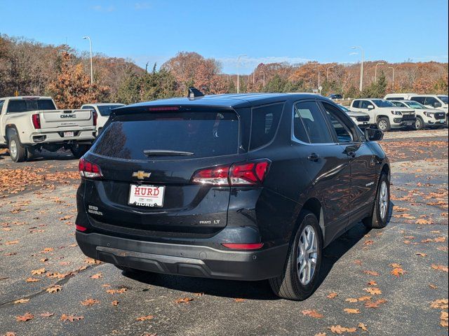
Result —
POLYGON ((315 102, 295 104, 295 113, 301 119, 307 133, 309 143, 328 144, 333 142, 326 120, 315 102))

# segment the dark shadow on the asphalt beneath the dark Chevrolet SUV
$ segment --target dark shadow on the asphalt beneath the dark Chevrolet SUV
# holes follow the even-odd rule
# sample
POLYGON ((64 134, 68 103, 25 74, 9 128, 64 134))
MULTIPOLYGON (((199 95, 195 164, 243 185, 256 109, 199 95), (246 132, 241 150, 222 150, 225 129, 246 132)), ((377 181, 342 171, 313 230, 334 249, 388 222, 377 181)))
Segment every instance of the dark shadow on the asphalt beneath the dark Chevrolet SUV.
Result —
MULTIPOLYGON (((390 205, 389 221, 394 204, 390 202, 390 205)), ((370 230, 363 223, 358 223, 354 228, 345 232, 323 250, 319 283, 316 289, 321 286, 321 283, 326 279, 335 263, 344 257, 347 251, 363 239, 368 232, 370 230)), ((158 273, 133 274, 123 272, 122 274, 129 279, 147 283, 148 285, 180 290, 182 292, 192 293, 192 295, 204 293, 219 297, 248 300, 280 300, 279 297, 272 293, 268 281, 232 281, 158 273)))

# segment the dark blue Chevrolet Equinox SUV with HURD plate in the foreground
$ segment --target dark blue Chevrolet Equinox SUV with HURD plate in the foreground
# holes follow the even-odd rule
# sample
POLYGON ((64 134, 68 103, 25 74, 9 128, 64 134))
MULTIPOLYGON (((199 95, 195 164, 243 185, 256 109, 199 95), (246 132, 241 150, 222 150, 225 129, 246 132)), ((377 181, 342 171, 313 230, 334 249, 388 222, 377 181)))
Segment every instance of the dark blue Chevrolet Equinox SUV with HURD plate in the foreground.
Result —
POLYGON ((76 240, 125 272, 269 279, 303 300, 323 248, 389 216, 389 161, 317 94, 222 94, 115 109, 81 158, 76 240))

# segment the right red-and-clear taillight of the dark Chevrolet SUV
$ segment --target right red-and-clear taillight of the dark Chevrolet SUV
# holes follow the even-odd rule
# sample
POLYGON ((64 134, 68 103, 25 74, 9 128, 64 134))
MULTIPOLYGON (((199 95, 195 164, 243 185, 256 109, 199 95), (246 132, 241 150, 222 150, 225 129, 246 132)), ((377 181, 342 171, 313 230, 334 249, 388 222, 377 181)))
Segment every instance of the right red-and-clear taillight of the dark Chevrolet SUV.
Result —
POLYGON ((267 175, 270 161, 267 159, 234 163, 197 171, 193 183, 213 186, 260 186, 267 175))

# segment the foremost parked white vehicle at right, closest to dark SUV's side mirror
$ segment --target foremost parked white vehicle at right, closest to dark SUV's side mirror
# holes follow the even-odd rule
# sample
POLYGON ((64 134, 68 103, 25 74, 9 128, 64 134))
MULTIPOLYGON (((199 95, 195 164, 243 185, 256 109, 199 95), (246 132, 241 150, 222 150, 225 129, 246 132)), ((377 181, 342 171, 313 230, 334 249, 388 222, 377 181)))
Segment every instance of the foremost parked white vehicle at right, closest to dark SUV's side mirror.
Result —
POLYGON ((398 107, 385 99, 355 99, 351 111, 365 112, 370 116, 370 124, 387 132, 392 128, 415 127, 415 110, 398 107))

